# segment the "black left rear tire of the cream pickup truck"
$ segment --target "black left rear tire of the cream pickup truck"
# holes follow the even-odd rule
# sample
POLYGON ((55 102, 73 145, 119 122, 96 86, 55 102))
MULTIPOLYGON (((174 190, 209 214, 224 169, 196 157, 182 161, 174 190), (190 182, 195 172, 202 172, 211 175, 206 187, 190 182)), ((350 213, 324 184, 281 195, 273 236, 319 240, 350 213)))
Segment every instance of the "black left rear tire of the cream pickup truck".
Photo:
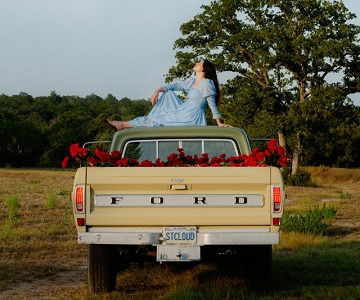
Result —
POLYGON ((116 286, 116 247, 88 246, 88 283, 91 294, 111 292, 116 286))

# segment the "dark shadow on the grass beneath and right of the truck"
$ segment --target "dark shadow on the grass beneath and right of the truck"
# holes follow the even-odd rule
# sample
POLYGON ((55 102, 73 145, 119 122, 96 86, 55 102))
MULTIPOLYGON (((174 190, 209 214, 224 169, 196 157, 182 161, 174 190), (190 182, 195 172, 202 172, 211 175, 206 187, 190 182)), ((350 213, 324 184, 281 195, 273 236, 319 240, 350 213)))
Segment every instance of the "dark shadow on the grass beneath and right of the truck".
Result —
MULTIPOLYGON (((325 290, 357 288, 360 284, 359 253, 358 241, 328 242, 296 251, 274 251, 271 285, 265 288, 262 281, 253 285, 254 281, 250 282, 241 266, 236 264, 159 265, 150 262, 144 268, 131 267, 118 274, 116 291, 124 299, 134 292, 155 298, 161 294, 171 295, 164 299, 243 299, 241 297, 245 296, 249 299, 275 299, 294 296, 312 287, 316 298, 319 287, 325 290), (218 294, 232 298, 216 298, 218 294), (256 295, 262 296, 256 298, 256 295)), ((312 291, 309 293, 311 295, 312 291)), ((162 298, 159 296, 158 299, 162 298)))

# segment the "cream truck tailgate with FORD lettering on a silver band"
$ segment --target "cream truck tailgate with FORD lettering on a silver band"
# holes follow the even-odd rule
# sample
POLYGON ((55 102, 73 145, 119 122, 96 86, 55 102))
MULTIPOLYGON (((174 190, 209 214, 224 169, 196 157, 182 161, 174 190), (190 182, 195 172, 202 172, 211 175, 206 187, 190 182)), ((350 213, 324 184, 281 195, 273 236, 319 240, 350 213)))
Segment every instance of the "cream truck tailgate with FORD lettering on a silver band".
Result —
POLYGON ((82 168, 86 225, 269 226, 272 170, 278 173, 272 167, 82 168))

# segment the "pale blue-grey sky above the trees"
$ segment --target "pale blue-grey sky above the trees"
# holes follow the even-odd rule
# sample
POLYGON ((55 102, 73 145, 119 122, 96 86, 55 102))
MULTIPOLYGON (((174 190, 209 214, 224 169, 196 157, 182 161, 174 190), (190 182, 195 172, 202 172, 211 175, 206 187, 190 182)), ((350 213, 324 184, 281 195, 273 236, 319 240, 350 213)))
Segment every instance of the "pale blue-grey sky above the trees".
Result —
MULTIPOLYGON (((0 0, 0 94, 149 99, 176 63, 180 25, 210 2, 0 0)), ((357 2, 344 1, 360 25, 357 2)))

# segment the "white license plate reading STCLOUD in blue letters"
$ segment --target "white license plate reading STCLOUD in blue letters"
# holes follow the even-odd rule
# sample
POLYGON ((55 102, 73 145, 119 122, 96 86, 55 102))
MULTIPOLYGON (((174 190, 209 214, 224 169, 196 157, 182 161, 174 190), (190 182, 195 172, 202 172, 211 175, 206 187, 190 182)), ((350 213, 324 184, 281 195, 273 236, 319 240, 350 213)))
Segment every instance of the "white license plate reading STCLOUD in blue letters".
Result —
POLYGON ((193 245, 196 244, 196 227, 164 227, 164 244, 193 245))

